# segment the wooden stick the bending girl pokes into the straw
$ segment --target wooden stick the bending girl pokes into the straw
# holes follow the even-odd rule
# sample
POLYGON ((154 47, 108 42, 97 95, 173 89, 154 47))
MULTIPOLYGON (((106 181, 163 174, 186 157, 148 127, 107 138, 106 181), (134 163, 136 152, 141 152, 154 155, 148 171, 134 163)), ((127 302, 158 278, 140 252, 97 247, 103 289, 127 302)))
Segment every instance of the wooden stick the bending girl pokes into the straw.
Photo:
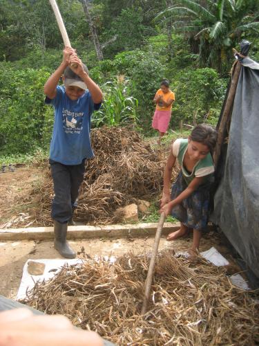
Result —
POLYGON ((150 260, 150 264, 148 267, 148 275, 146 276, 144 300, 143 300, 143 305, 142 305, 142 310, 141 310, 142 315, 144 315, 144 313, 146 313, 146 307, 148 305, 149 293, 150 293, 151 283, 153 280, 153 273, 154 273, 154 269, 155 269, 155 257, 157 255, 157 249, 159 246, 159 242, 160 242, 160 238, 161 238, 162 229, 163 229, 165 219, 166 219, 166 215, 164 214, 164 212, 162 212, 162 214, 160 216, 159 223, 157 225, 157 232, 155 233, 155 241, 153 244, 151 260, 150 260))

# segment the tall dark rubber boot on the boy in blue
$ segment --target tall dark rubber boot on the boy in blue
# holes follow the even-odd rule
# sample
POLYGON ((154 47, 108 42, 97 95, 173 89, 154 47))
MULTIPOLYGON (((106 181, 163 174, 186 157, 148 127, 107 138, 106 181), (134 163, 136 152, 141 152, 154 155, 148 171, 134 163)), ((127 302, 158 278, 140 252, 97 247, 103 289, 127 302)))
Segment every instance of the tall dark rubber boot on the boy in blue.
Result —
POLYGON ((72 248, 70 248, 66 241, 66 233, 68 232, 68 224, 61 224, 58 221, 54 221, 54 247, 59 251, 60 255, 65 258, 75 258, 76 254, 72 248))

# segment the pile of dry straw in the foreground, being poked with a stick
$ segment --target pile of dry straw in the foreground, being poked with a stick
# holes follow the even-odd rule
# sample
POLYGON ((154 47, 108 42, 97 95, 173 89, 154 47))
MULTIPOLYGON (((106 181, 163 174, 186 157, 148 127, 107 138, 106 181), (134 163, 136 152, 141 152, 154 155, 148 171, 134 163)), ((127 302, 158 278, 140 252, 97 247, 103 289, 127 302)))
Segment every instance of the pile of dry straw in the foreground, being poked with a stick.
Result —
POLYGON ((27 304, 62 313, 75 326, 118 345, 258 345, 259 302, 229 282, 223 268, 198 258, 157 257, 149 310, 141 316, 147 255, 115 264, 87 260, 36 284, 27 304))

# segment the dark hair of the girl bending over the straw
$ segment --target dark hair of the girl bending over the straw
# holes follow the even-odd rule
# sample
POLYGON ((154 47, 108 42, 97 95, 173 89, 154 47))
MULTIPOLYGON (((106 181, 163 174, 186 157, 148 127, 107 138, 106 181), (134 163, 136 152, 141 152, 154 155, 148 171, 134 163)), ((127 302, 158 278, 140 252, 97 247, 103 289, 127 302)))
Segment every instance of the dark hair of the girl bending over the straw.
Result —
POLYGON ((191 131, 191 140, 195 142, 207 145, 210 152, 213 152, 215 144, 217 142, 217 131, 210 125, 200 124, 194 127, 191 131))

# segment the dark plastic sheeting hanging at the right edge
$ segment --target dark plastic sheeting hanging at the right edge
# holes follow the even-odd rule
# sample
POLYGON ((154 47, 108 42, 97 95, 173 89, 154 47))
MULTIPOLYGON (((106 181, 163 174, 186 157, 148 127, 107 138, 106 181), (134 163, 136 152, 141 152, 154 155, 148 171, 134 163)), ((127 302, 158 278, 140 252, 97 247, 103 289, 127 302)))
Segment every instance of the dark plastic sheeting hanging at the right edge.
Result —
POLYGON ((210 219, 259 277, 259 64, 248 57, 240 62, 229 143, 222 147, 210 219))

